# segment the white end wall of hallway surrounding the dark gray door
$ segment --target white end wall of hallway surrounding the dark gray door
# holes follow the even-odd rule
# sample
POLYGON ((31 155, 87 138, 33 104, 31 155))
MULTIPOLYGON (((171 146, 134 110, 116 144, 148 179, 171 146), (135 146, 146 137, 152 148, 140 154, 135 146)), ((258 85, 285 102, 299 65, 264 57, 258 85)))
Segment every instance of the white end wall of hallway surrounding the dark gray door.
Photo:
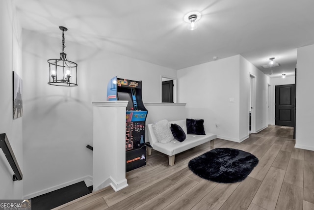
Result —
POLYGON ((277 77, 270 78, 270 119, 269 124, 275 124, 275 87, 277 85, 290 85, 295 83, 294 76, 288 76, 286 78, 277 77))

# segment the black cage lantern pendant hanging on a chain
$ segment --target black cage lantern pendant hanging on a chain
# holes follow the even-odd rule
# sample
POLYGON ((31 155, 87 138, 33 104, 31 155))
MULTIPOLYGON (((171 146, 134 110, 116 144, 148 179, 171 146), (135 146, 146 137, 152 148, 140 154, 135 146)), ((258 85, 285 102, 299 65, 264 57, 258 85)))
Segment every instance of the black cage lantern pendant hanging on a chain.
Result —
POLYGON ((64 31, 68 29, 60 26, 62 30, 62 52, 59 59, 50 59, 49 62, 49 85, 55 86, 78 86, 78 64, 67 60, 67 54, 64 53, 64 31))

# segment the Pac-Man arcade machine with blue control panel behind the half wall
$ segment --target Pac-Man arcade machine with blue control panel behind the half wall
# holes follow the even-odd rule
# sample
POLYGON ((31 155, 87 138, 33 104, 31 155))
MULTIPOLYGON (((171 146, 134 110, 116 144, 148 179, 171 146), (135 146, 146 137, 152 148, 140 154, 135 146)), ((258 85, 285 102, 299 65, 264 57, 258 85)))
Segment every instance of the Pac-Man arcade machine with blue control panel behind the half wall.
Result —
POLYGON ((107 100, 129 101, 126 109, 126 172, 146 165, 147 110, 142 101, 142 81, 112 78, 107 86, 107 100))

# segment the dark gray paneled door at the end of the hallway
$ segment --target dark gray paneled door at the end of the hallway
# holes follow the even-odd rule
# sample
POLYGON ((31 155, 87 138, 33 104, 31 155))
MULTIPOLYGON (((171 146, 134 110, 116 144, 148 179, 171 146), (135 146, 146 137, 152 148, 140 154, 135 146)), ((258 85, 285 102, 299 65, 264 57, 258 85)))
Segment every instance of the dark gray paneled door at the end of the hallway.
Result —
POLYGON ((275 124, 294 126, 295 85, 275 87, 275 124))

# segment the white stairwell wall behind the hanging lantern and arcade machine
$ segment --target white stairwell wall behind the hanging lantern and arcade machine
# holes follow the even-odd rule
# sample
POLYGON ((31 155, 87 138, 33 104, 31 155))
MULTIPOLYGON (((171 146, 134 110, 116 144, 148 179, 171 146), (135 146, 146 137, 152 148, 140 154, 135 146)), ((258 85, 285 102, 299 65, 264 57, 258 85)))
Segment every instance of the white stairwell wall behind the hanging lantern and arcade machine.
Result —
MULTIPOLYGON (((65 38, 67 33, 71 29, 65 38)), ((160 102, 161 75, 176 78, 177 72, 66 38, 67 58, 78 63, 78 87, 50 86, 47 60, 59 57, 61 39, 28 30, 23 39, 24 195, 34 197, 80 180, 90 185, 92 151, 86 145, 93 146, 92 102, 106 100, 109 79, 142 80, 143 101, 160 102)))

